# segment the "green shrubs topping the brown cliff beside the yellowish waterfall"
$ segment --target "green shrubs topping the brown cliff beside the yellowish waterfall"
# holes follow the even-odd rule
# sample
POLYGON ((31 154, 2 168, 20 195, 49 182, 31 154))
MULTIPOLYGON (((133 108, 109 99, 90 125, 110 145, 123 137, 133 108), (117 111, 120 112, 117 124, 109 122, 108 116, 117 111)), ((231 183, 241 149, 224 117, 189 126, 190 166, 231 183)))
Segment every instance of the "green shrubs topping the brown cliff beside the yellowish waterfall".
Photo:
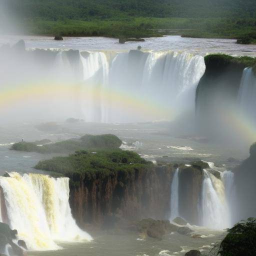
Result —
POLYGON ((39 161, 36 169, 61 173, 71 177, 73 182, 79 182, 81 174, 87 179, 114 175, 116 171, 133 172, 136 169, 147 170, 152 166, 137 153, 123 150, 106 150, 88 152, 76 151, 69 156, 53 157, 39 161))

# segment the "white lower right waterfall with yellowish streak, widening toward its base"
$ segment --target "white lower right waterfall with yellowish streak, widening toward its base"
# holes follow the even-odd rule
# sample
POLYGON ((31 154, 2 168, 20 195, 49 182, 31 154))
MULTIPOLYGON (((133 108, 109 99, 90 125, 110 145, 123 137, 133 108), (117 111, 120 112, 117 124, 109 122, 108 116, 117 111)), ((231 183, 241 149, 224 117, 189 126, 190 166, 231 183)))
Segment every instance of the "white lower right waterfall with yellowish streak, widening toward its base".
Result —
POLYGON ((203 170, 201 217, 203 226, 215 229, 230 226, 224 184, 206 169, 203 170))

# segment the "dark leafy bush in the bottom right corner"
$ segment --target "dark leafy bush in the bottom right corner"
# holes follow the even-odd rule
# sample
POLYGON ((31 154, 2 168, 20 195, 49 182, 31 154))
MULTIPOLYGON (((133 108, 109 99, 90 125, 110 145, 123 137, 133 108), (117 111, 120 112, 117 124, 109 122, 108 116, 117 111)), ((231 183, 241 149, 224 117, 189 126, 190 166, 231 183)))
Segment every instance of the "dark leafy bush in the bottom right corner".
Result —
POLYGON ((248 218, 227 229, 228 234, 220 244, 221 256, 253 256, 256 251, 256 219, 248 218))

